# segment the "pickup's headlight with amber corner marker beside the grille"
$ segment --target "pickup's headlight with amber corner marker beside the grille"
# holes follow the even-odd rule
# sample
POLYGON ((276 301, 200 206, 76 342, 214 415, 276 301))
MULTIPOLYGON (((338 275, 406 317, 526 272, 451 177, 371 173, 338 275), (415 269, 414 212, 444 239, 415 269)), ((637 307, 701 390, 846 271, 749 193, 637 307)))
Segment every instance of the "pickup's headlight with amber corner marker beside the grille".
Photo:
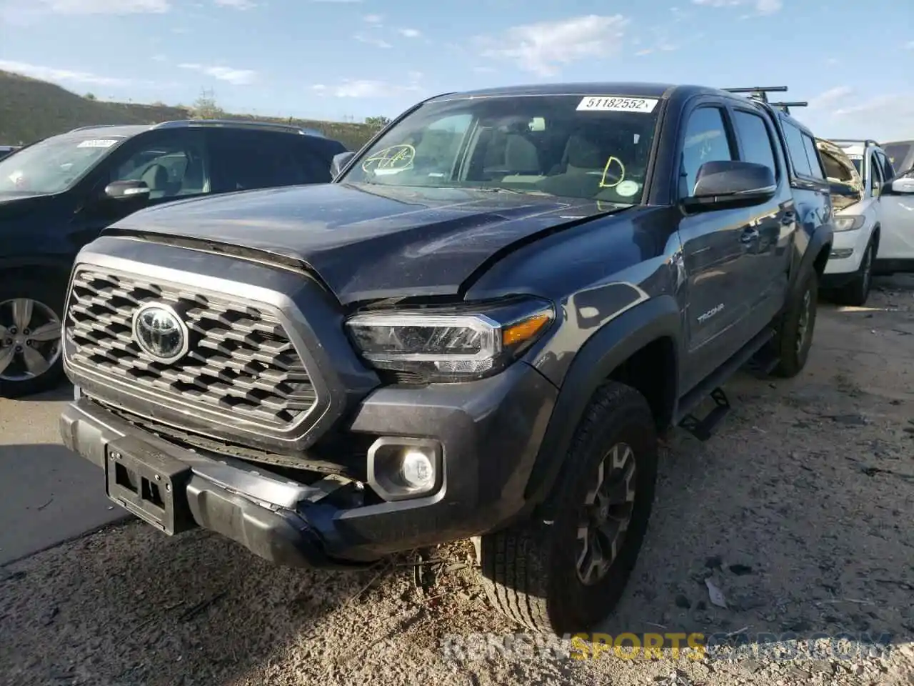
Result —
POLYGON ((470 381, 513 362, 547 330, 550 303, 525 300, 465 308, 427 307, 356 315, 345 326, 377 370, 417 374, 420 381, 470 381))

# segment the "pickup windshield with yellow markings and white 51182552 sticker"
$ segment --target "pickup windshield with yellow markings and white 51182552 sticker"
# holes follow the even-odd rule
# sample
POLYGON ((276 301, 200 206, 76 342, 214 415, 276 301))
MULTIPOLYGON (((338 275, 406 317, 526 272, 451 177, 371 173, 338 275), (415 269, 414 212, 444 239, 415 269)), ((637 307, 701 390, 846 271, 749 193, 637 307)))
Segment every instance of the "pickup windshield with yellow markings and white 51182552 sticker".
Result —
POLYGON ((657 104, 580 95, 430 102, 384 134, 339 180, 633 204, 641 198, 657 104))

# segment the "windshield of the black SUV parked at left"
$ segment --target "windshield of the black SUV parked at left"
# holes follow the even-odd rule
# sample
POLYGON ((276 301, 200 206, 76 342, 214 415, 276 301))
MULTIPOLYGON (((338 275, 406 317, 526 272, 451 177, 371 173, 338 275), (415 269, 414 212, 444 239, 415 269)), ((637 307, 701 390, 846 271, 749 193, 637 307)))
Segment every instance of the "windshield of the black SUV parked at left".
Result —
POLYGON ((0 160, 0 193, 45 195, 67 190, 122 137, 61 135, 0 160))

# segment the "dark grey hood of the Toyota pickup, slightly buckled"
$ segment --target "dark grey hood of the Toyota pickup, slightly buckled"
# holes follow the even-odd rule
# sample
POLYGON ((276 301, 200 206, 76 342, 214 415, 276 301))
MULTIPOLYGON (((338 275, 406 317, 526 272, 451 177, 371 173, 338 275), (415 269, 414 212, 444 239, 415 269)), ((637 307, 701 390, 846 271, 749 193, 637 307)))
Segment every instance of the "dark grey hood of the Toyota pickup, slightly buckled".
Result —
POLYGON ((510 191, 320 184, 171 202, 109 232, 269 253, 316 273, 346 305, 459 295, 518 241, 627 207, 510 191))

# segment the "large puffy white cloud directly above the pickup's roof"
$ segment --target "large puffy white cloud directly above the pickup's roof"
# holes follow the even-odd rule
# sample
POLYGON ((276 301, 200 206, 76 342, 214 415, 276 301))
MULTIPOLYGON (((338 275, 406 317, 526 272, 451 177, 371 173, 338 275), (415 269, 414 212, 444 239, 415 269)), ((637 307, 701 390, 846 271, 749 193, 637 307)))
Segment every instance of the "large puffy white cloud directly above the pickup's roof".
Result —
POLYGON ((483 55, 509 59, 540 76, 554 76, 571 62, 618 52, 627 24, 622 15, 587 15, 511 27, 503 36, 483 38, 483 55))

